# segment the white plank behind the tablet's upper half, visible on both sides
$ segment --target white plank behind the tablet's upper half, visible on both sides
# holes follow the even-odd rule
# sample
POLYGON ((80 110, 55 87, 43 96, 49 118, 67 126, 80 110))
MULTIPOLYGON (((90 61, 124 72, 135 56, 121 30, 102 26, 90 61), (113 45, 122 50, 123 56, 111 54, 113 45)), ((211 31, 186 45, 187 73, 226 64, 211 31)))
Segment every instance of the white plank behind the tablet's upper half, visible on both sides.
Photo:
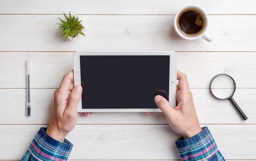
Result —
MULTIPOLYGON (((0 88, 26 88, 26 60, 32 61, 32 87, 58 88, 73 69, 73 52, 2 52, 0 88)), ((177 52, 177 69, 187 74, 191 88, 209 88, 219 73, 232 76, 237 88, 256 88, 255 52, 177 52)))

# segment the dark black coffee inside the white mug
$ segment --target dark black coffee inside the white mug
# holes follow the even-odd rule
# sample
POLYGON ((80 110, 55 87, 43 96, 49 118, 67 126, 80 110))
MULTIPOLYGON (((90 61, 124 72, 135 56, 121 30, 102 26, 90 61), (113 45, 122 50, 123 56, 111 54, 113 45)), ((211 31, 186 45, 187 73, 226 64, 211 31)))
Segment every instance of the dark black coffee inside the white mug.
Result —
POLYGON ((196 11, 187 11, 180 16, 180 29, 186 34, 198 33, 204 24, 204 20, 200 13, 196 11))

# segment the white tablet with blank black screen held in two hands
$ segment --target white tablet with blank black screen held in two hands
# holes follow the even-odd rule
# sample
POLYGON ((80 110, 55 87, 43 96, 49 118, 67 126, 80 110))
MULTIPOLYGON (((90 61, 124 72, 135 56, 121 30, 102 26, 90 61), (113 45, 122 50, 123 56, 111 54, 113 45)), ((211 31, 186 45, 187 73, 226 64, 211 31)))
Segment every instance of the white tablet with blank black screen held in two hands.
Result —
POLYGON ((75 52, 74 85, 83 87, 78 112, 161 112, 155 95, 175 107, 177 54, 75 52))

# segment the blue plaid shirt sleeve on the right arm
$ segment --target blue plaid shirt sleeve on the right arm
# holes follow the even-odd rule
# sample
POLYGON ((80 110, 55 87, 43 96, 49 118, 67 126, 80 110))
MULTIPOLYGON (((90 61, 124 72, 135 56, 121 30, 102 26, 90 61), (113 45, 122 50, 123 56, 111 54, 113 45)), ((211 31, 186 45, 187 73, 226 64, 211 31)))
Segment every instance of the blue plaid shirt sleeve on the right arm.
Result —
POLYGON ((195 136, 181 137, 175 143, 182 161, 225 161, 207 127, 195 136))

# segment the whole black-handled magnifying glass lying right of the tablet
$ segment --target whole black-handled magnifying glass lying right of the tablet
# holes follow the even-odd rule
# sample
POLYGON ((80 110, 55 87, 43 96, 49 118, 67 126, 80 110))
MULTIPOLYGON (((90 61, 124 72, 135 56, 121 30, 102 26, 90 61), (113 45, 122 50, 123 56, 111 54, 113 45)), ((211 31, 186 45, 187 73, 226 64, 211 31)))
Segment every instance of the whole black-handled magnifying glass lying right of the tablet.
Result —
POLYGON ((248 119, 236 101, 232 98, 236 91, 236 82, 231 76, 227 74, 217 74, 211 79, 210 90, 211 94, 218 99, 229 99, 234 107, 236 107, 236 110, 239 112, 240 116, 244 120, 248 119))

